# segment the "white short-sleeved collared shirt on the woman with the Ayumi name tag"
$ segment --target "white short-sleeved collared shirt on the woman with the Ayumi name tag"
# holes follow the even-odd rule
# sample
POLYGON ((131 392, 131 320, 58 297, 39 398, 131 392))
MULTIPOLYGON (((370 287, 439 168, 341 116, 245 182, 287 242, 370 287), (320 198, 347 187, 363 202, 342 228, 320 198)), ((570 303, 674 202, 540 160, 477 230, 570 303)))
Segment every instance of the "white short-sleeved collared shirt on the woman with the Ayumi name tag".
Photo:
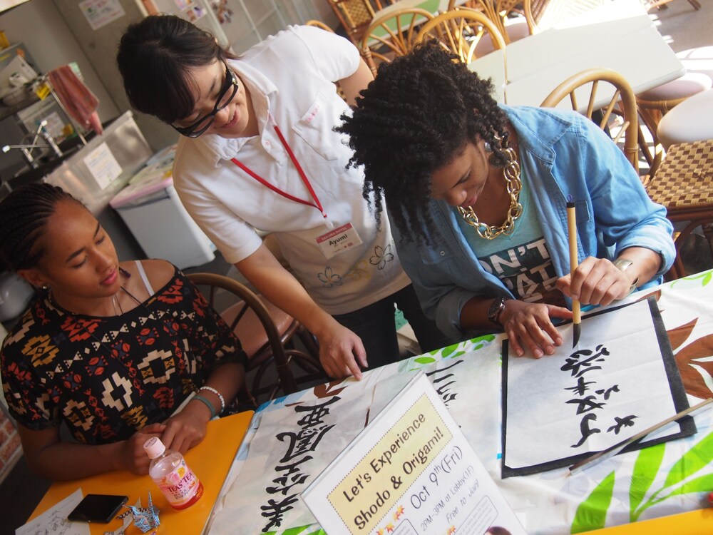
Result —
POLYGON ((333 81, 351 76, 359 51, 342 37, 311 26, 290 26, 252 47, 231 68, 250 91, 260 135, 182 138, 174 185, 185 208, 237 263, 255 253, 259 229, 275 233, 294 275, 331 314, 370 305, 409 284, 396 256, 389 221, 376 229, 361 196, 361 168, 346 169, 352 151, 332 128, 349 106, 333 81), (237 158, 280 190, 311 196, 272 128, 271 115, 335 227, 352 223, 362 245, 329 260, 315 239, 327 232, 322 214, 281 195, 237 167, 237 158))

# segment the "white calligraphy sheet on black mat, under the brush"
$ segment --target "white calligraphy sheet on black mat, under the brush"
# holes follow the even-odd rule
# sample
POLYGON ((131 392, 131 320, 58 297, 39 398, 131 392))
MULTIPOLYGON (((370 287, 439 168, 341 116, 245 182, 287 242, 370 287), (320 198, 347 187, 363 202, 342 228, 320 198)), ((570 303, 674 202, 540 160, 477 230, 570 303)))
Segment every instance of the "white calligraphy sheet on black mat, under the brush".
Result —
POLYGON ((577 350, 572 325, 558 330, 564 342, 555 355, 515 357, 508 345, 510 468, 601 451, 677 412, 647 301, 585 318, 577 350))

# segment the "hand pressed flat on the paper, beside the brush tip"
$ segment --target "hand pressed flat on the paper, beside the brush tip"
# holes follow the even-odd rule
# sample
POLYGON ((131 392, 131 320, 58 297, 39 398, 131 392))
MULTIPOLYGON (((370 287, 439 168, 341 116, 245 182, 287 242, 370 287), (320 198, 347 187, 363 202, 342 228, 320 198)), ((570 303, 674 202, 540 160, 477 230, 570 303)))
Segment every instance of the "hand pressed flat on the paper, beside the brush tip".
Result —
POLYGON ((523 357, 525 350, 528 350, 530 355, 539 359, 543 355, 552 355, 555 347, 562 345, 562 337, 550 320, 552 317, 571 320, 572 311, 555 305, 511 299, 506 301, 505 310, 498 319, 518 357, 523 357))

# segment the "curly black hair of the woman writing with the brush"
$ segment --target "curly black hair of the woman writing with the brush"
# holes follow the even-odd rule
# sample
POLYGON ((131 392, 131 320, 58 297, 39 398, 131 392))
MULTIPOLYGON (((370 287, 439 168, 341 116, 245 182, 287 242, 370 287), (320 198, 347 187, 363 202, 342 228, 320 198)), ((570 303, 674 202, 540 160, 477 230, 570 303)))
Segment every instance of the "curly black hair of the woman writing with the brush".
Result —
POLYGON ((490 143, 496 163, 506 163, 507 120, 492 92, 491 81, 434 41, 381 63, 352 115, 342 115, 335 128, 349 135, 348 165, 364 165, 364 198, 371 202, 373 194, 377 222, 386 200, 406 239, 427 240, 426 229, 411 223, 419 216, 431 223, 426 206, 434 171, 476 138, 490 143))

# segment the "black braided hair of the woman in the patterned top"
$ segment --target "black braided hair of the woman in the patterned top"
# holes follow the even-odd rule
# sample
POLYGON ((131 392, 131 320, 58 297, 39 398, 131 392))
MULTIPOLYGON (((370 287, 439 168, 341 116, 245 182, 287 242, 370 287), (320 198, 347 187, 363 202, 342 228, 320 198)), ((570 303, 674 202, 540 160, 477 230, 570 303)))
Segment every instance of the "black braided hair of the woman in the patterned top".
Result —
POLYGON ((0 201, 0 261, 9 270, 35 267, 45 253, 39 238, 61 200, 81 204, 62 188, 46 183, 24 185, 0 201))

